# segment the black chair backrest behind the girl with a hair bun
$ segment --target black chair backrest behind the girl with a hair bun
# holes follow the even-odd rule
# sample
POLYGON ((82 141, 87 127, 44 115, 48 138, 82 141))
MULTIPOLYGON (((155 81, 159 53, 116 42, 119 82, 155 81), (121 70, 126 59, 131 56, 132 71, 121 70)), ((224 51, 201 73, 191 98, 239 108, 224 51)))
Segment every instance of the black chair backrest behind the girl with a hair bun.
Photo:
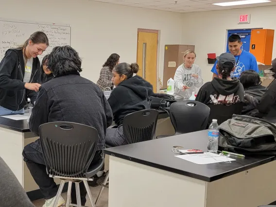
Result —
POLYGON ((128 114, 123 119, 123 134, 129 144, 155 138, 158 111, 145 109, 128 114))

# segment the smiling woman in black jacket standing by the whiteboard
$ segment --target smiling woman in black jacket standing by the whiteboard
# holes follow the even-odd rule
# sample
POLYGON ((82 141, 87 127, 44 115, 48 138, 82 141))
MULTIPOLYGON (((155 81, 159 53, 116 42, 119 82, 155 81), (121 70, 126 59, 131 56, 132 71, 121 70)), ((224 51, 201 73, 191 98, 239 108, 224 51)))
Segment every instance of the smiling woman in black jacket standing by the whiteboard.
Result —
POLYGON ((23 114, 27 98, 34 104, 40 84, 41 55, 49 40, 43 32, 35 32, 17 49, 7 50, 0 63, 0 116, 23 114))

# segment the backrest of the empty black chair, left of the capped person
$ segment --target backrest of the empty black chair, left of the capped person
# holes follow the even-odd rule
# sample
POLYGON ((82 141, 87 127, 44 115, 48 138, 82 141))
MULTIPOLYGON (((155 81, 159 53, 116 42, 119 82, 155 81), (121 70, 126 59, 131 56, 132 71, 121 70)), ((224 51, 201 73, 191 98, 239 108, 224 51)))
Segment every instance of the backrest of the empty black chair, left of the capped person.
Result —
POLYGON ((206 129, 210 108, 197 101, 175 102, 170 117, 176 133, 185 134, 206 129))

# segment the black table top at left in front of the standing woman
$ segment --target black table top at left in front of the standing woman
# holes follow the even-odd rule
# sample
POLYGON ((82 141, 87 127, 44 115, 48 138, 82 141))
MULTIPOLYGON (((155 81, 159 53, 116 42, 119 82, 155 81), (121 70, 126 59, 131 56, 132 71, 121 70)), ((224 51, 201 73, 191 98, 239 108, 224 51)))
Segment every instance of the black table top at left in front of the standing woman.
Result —
POLYGON ((11 120, 8 118, 0 117, 0 127, 17 132, 30 132, 27 120, 11 120))

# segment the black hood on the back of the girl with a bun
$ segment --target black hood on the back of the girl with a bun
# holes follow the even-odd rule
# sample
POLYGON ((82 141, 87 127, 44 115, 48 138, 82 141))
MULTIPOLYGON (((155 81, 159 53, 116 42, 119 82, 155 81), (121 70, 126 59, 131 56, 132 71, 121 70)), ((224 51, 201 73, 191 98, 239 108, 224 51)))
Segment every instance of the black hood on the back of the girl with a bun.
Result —
POLYGON ((141 97, 141 99, 145 99, 153 94, 153 86, 138 75, 126 79, 119 86, 128 87, 141 97))

